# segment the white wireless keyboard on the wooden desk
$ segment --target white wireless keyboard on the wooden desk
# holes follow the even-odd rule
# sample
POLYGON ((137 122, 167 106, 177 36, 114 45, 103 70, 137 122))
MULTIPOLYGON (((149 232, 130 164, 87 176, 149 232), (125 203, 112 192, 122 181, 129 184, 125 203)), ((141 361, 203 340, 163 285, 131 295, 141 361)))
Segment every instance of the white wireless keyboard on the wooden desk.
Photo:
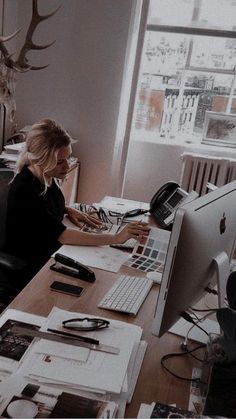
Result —
POLYGON ((120 276, 100 301, 98 307, 136 315, 153 281, 147 277, 120 276))

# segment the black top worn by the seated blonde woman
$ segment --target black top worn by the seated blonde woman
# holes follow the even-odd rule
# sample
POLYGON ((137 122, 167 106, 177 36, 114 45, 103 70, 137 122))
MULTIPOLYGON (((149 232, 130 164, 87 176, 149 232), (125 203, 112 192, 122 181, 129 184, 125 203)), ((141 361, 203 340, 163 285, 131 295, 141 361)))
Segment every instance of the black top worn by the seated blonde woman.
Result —
MULTIPOLYGON (((59 247, 65 230, 65 199, 53 180, 44 185, 25 166, 14 178, 9 195, 5 250, 27 262, 31 279, 59 247)), ((26 278, 28 279, 28 278, 26 278)))

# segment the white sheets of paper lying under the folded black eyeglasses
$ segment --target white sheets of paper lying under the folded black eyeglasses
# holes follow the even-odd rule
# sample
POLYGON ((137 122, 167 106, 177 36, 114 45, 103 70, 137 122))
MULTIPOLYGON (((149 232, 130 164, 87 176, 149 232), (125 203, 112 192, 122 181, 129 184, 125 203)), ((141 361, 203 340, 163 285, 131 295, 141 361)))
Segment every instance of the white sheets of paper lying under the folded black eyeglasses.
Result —
MULTIPOLYGON (((69 318, 73 317, 93 316, 83 313, 69 313, 69 318)), ((67 319, 67 311, 54 308, 41 330, 45 331, 47 328, 62 330, 62 321, 67 319)), ((102 344, 118 347, 120 353, 113 355, 89 350, 88 358, 83 361, 67 358, 64 350, 63 357, 49 355, 47 341, 44 341, 45 352, 42 353, 42 343, 40 346, 35 343, 28 356, 24 375, 36 380, 44 378, 48 382, 69 383, 72 386, 81 386, 88 391, 120 393, 133 347, 140 342, 141 335, 142 329, 138 326, 110 320, 108 328, 90 332, 89 337, 98 339, 102 344)), ((84 350, 84 348, 75 347, 74 351, 79 353, 80 349, 84 350)))

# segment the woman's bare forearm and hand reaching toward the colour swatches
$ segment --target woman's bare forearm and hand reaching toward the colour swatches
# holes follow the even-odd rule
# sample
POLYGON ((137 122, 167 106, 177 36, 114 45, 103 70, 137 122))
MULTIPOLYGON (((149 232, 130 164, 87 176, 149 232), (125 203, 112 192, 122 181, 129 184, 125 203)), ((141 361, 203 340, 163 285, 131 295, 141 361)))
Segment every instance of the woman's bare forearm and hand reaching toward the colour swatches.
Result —
POLYGON ((58 240, 61 244, 73 244, 78 246, 122 244, 131 238, 140 240, 143 236, 148 235, 149 230, 150 227, 148 224, 143 222, 129 223, 116 234, 94 234, 66 228, 59 236, 58 240))

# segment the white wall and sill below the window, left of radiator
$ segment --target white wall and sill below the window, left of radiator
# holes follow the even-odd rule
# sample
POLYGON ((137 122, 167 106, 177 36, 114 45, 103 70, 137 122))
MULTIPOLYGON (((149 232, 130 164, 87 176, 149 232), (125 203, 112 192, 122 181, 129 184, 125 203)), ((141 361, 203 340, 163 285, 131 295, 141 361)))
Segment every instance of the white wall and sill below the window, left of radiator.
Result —
POLYGON ((160 186, 180 181, 183 152, 236 159, 235 149, 207 145, 164 145, 132 141, 129 147, 123 197, 149 202, 160 186))

